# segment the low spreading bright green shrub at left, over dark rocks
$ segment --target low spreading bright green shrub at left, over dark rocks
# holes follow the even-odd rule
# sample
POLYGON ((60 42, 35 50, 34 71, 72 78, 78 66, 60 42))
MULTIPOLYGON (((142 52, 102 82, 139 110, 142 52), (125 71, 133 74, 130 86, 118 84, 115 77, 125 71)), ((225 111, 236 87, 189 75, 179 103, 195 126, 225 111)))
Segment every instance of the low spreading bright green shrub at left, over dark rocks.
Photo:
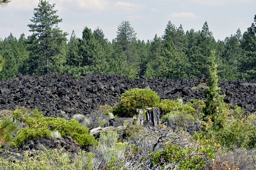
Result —
POLYGON ((52 131, 58 130, 61 136, 70 135, 74 141, 82 146, 89 146, 95 142, 93 135, 88 133, 88 128, 81 126, 78 121, 64 118, 45 117, 41 119, 30 118, 27 114, 20 114, 19 110, 13 111, 17 119, 23 121, 28 127, 22 128, 14 138, 13 147, 21 147, 29 140, 36 138, 49 138, 52 131), (20 116, 20 117, 19 117, 20 116))

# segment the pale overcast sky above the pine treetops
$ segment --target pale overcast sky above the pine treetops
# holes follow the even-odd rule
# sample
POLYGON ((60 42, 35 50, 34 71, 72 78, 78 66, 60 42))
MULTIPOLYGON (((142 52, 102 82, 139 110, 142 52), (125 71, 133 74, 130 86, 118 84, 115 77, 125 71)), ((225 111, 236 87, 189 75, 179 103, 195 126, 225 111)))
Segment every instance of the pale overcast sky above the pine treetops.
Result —
MULTIPOLYGON (((39 0, 12 0, 0 7, 0 38, 10 35, 31 35, 29 27, 34 8, 39 0)), ((215 40, 224 40, 237 29, 247 30, 256 14, 256 0, 49 0, 63 22, 58 26, 64 32, 72 30, 82 36, 85 26, 92 31, 99 26, 105 37, 116 37, 117 26, 123 20, 130 22, 140 40, 162 36, 168 21, 183 26, 184 31, 201 30, 207 21, 215 40)))

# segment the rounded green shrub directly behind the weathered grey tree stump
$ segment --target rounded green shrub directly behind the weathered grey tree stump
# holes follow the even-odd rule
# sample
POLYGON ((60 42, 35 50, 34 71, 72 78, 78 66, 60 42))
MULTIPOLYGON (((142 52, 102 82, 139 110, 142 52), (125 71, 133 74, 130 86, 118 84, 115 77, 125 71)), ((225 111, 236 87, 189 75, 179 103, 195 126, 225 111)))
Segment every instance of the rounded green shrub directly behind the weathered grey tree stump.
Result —
POLYGON ((160 98, 157 93, 149 89, 131 89, 122 94, 120 102, 113 108, 113 114, 119 117, 132 117, 137 109, 155 107, 160 98))

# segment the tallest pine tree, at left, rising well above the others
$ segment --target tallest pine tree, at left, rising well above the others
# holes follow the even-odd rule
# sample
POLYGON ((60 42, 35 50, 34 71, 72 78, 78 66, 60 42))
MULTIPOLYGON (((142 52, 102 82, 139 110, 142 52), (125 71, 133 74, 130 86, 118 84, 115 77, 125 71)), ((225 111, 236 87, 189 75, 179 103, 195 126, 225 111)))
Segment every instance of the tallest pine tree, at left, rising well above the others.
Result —
POLYGON ((50 73, 59 73, 62 71, 62 65, 65 62, 65 55, 62 49, 67 41, 67 33, 58 28, 58 19, 55 15, 57 11, 53 10, 55 4, 41 0, 38 8, 35 8, 34 17, 29 24, 32 36, 29 36, 29 73, 33 75, 44 75, 50 73), (59 63, 59 62, 62 63, 59 63))

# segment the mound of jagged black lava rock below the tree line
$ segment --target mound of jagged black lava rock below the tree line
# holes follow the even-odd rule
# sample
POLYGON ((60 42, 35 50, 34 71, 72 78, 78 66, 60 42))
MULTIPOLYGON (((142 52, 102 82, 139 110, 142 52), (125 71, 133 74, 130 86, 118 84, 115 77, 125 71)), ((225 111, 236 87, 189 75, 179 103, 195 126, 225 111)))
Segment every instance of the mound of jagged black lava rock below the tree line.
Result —
MULTIPOLYGON (((65 111, 70 118, 93 113, 100 105, 114 106, 122 93, 132 88, 151 89, 161 99, 182 98, 186 103, 190 99, 205 99, 200 86, 206 80, 205 75, 178 81, 93 73, 76 80, 67 75, 34 77, 19 73, 16 78, 0 81, 0 110, 24 106, 38 108, 51 117, 63 117, 61 111, 65 111)), ((219 86, 221 94, 226 94, 226 103, 239 105, 248 113, 256 110, 255 81, 225 81, 219 82, 219 86)))

